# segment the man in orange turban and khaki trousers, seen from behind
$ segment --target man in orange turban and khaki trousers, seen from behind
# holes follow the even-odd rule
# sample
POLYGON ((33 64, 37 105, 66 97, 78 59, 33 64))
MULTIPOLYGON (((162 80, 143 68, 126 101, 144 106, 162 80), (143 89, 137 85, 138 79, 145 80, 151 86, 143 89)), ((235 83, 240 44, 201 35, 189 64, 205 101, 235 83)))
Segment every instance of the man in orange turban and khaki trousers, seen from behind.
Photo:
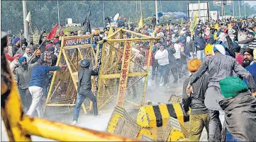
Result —
MULTIPOLYGON (((199 69, 201 64, 202 62, 199 59, 191 59, 187 67, 193 74, 199 69)), ((206 127, 206 131, 208 132, 208 123, 210 121, 208 109, 204 105, 204 94, 208 88, 208 74, 205 73, 193 84, 194 93, 188 96, 186 89, 191 76, 183 84, 182 104, 186 113, 189 111, 189 107, 191 108, 191 114, 189 115, 189 141, 199 141, 204 127, 206 127)))

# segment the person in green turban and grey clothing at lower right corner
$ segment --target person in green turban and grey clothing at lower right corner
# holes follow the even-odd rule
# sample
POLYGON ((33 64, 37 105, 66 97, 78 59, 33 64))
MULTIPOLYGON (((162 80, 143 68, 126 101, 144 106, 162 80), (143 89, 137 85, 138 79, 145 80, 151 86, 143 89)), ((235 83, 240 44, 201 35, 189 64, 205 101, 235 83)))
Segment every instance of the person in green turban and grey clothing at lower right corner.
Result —
POLYGON ((232 141, 256 141, 256 98, 238 77, 226 77, 219 83, 225 97, 219 102, 225 111, 224 131, 235 138, 232 141))

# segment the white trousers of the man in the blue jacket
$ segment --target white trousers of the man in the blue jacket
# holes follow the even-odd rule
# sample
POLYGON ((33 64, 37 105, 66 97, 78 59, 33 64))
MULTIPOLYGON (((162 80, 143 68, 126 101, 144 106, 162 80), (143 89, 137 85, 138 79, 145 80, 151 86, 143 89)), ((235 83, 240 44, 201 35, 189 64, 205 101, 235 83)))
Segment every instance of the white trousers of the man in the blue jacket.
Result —
POLYGON ((30 94, 32 95, 32 103, 27 112, 27 115, 32 115, 35 110, 38 112, 38 117, 43 117, 43 107, 41 105, 41 97, 43 96, 43 88, 38 86, 28 87, 30 94))

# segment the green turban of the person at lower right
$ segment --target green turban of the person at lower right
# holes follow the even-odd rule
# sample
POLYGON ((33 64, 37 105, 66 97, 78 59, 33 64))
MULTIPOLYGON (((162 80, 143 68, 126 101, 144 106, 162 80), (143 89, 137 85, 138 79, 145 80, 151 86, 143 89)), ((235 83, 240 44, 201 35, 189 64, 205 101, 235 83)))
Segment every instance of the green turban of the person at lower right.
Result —
POLYGON ((224 97, 235 97, 248 90, 248 86, 238 77, 228 76, 220 81, 221 94, 224 97))

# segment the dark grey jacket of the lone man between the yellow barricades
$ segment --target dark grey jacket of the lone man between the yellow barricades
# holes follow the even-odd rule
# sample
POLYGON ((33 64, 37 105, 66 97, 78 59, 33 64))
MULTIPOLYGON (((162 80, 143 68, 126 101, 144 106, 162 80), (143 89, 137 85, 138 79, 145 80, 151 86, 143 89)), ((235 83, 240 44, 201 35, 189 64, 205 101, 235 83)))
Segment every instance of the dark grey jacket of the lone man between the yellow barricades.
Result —
POLYGON ((86 90, 91 90, 91 76, 98 76, 98 71, 92 69, 81 69, 78 71, 78 92, 84 92, 86 90))

